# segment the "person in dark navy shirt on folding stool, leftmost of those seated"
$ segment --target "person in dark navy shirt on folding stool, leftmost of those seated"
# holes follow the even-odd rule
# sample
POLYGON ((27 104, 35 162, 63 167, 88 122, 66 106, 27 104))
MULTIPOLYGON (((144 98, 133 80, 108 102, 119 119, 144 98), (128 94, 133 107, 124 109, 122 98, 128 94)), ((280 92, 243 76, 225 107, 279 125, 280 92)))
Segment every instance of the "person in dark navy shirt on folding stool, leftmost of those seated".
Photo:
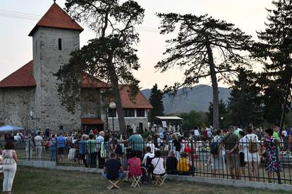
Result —
POLYGON ((108 180, 123 179, 125 177, 123 166, 119 160, 116 159, 116 153, 111 153, 111 159, 104 164, 104 172, 102 177, 108 180))

